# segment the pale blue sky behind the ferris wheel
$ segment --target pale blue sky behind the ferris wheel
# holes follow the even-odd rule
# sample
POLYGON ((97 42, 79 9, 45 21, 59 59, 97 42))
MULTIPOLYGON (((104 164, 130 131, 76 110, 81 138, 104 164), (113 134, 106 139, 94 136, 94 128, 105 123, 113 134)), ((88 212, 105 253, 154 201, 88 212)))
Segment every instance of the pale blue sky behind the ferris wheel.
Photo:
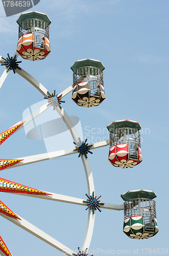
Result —
MULTIPOLYGON (((0 55, 12 56, 17 46, 19 14, 6 17, 2 3, 0 7, 0 55)), ((98 59, 105 66, 106 100, 103 103, 86 109, 71 100, 71 93, 64 98, 63 108, 68 115, 80 118, 83 136, 90 131, 89 139, 93 136, 94 142, 102 140, 108 136, 104 128, 114 120, 135 120, 142 126, 143 162, 138 166, 131 169, 112 166, 107 161, 108 147, 94 150, 89 161, 95 194, 102 195, 101 202, 122 204, 120 195, 127 190, 155 191, 159 232, 148 240, 129 239, 122 232, 123 211, 103 209, 101 213, 96 211, 91 250, 129 249, 133 254, 133 249, 138 248, 141 255, 142 248, 168 248, 168 7, 167 0, 41 0, 35 9, 30 9, 46 13, 52 21, 51 54, 35 62, 21 57, 18 60, 22 60, 20 67, 50 92, 60 93, 72 84, 70 67, 75 60, 98 59), (97 129, 101 134, 95 134, 97 129)), ((0 75, 3 72, 1 67, 0 75)), ((1 95, 1 132, 21 120, 29 106, 43 100, 29 82, 12 72, 1 88, 1 95)), ((53 111, 52 115, 54 118, 56 113, 53 111)), ((62 147, 62 141, 59 146, 62 147)), ((1 145, 1 158, 45 152, 44 141, 27 139, 24 129, 1 145)), ((86 199, 86 176, 77 154, 5 169, 1 177, 86 199)), ((69 248, 75 250, 82 246, 88 219, 85 207, 5 193, 1 193, 0 200, 69 248)), ((1 219, 0 235, 13 256, 62 255, 32 234, 1 219)))

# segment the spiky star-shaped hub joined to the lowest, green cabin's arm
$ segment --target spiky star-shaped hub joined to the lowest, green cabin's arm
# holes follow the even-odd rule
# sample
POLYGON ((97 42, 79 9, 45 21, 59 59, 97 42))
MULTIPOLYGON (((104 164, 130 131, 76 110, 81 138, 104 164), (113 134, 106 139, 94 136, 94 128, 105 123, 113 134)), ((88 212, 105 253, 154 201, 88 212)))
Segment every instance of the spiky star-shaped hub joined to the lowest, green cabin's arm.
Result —
POLYGON ((104 205, 104 203, 100 203, 99 198, 101 197, 95 197, 95 193, 93 191, 92 196, 89 196, 88 194, 86 194, 86 196, 88 197, 87 201, 83 201, 83 203, 87 203, 88 207, 86 208, 86 210, 88 210, 89 208, 93 211, 93 214, 95 214, 95 210, 100 210, 100 205, 104 205))

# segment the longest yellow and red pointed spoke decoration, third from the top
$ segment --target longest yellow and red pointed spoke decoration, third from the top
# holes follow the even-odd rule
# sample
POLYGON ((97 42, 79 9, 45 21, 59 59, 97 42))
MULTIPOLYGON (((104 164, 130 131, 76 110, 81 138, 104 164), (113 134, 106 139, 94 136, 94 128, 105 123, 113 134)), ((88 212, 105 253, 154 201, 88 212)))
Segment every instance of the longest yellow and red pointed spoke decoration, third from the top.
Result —
POLYGON ((27 187, 22 184, 10 180, 5 180, 2 178, 0 178, 0 192, 51 195, 41 190, 32 187, 27 187))

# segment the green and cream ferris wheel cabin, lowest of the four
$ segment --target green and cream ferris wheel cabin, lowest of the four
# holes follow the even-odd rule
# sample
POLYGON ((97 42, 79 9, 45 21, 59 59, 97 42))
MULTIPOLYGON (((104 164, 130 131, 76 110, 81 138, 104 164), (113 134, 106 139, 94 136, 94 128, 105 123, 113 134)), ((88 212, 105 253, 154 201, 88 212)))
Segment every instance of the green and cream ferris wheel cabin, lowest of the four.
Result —
POLYGON ((158 232, 156 219, 156 194, 150 190, 127 191, 124 202, 123 232, 132 239, 148 239, 158 232))

